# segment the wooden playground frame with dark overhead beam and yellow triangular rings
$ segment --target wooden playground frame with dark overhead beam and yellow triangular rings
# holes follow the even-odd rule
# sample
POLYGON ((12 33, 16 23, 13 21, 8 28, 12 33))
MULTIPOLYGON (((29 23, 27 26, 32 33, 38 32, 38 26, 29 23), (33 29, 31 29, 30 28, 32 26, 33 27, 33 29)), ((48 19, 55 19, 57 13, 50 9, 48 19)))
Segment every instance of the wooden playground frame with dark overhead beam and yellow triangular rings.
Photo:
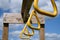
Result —
MULTIPOLYGON (((3 40, 8 40, 8 24, 9 23, 25 23, 25 26, 23 28, 23 30, 20 33, 20 38, 22 38, 22 35, 26 35, 29 36, 29 38, 31 36, 34 35, 34 30, 40 30, 40 40, 45 40, 44 37, 44 23, 41 24, 41 19, 39 18, 40 16, 38 16, 39 14, 42 15, 46 15, 46 16, 50 16, 50 17, 55 17, 58 13, 56 4, 54 0, 51 0, 54 12, 47 12, 45 10, 42 10, 38 7, 38 0, 23 0, 22 3, 22 10, 21 10, 21 14, 4 14, 4 31, 3 31, 3 40), (28 2, 29 1, 29 2, 28 2), (29 15, 29 10, 31 8, 31 5, 34 5, 34 10, 32 10, 31 14, 29 15), (37 15, 38 13, 38 15, 37 15), (21 16, 22 15, 22 16, 21 16), (35 20, 35 18, 33 19, 32 17, 35 16, 36 20, 37 20, 37 24, 38 27, 34 27, 32 26, 33 20, 35 20), (33 19, 33 20, 31 20, 33 19), (27 27, 29 27, 32 30, 32 33, 30 34, 27 27)), ((36 23, 36 22, 35 22, 36 23)))

